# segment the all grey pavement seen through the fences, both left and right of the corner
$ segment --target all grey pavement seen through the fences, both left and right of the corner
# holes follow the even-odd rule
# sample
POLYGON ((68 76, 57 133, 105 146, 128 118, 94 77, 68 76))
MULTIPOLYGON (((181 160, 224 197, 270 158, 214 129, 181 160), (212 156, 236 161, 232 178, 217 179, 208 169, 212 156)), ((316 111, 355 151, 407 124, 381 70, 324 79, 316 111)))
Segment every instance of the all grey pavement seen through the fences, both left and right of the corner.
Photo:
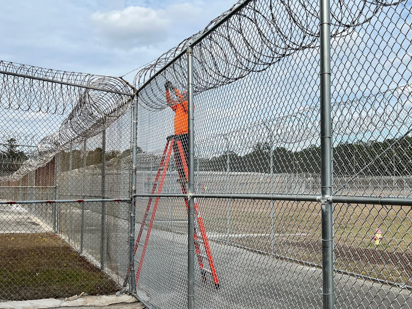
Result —
MULTIPOLYGON (((85 204, 84 251, 90 260, 100 261, 101 215, 98 205, 85 204)), ((116 205, 116 206, 113 206, 116 205)), ((119 212, 127 213, 127 205, 116 203, 119 212)), ((3 205, 0 209, 0 232, 44 232, 24 210, 23 205, 3 205)), ((61 209, 61 234, 80 250, 81 204, 61 209)), ((116 212, 117 213, 117 212, 116 212)), ((123 216, 107 215, 105 226, 106 267, 122 281, 128 265, 128 220, 123 216)), ((138 219, 137 219, 138 221, 138 219)), ((182 225, 181 222, 179 222, 182 225)), ((140 227, 136 224, 136 229, 140 227)), ((183 228, 182 232, 185 229, 183 228)), ((144 238, 143 238, 144 239, 144 238)), ((143 244, 143 243, 142 243, 143 244)), ((136 255, 139 263, 142 245, 136 255)), ((220 289, 213 281, 201 280, 195 265, 195 307, 198 309, 249 308, 321 308, 321 269, 271 258, 245 249, 211 241, 220 289)), ((205 259, 206 264, 206 259, 205 259)), ((138 296, 152 309, 186 307, 187 238, 184 234, 152 229, 138 281, 138 296)), ((410 290, 335 275, 336 308, 410 309, 410 290)))

